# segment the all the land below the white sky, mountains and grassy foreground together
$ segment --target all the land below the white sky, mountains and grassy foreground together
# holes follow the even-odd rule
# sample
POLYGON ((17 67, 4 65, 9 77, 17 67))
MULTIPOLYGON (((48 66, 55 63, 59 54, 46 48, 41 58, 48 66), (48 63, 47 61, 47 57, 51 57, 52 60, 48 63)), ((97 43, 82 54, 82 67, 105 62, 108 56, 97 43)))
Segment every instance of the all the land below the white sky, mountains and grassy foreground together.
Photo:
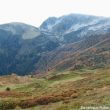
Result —
POLYGON ((109 110, 109 31, 80 14, 0 25, 0 110, 109 110))

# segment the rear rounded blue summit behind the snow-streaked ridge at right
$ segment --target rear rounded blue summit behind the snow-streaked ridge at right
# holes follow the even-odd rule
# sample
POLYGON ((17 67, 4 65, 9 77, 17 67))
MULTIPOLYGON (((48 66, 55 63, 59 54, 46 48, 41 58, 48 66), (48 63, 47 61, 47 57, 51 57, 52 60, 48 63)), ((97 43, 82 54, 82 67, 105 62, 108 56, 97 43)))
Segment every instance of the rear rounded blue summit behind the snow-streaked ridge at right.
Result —
MULTIPOLYGON (((81 14, 70 14, 59 18, 50 17, 45 20, 40 26, 41 30, 50 31, 54 33, 64 33, 70 30, 72 27, 81 27, 88 25, 100 17, 81 15, 81 14)), ((75 28, 76 30, 77 28, 75 28)))

